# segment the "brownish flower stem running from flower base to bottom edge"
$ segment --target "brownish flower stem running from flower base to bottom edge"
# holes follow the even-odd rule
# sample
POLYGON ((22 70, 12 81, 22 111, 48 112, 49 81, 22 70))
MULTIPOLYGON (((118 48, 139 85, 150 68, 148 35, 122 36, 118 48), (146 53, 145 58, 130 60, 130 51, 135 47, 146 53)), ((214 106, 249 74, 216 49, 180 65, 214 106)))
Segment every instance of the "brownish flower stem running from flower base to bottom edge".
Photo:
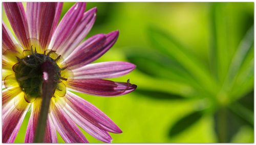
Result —
POLYGON ((42 63, 41 70, 42 75, 42 103, 40 108, 40 113, 38 116, 38 122, 36 126, 34 142, 42 143, 45 138, 46 122, 49 112, 50 101, 54 93, 54 66, 51 62, 46 61, 42 63))

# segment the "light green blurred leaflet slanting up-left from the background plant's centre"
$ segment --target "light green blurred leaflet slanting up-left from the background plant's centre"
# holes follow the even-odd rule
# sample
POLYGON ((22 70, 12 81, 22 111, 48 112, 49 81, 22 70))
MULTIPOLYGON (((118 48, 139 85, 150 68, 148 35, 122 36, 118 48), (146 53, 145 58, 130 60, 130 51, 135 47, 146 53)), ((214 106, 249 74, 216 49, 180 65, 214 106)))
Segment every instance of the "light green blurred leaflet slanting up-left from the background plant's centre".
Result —
POLYGON ((218 89, 216 81, 210 76, 206 65, 182 46, 173 36, 153 26, 148 29, 148 36, 150 36, 152 44, 159 52, 176 61, 180 67, 184 67, 204 90, 214 93, 218 89))

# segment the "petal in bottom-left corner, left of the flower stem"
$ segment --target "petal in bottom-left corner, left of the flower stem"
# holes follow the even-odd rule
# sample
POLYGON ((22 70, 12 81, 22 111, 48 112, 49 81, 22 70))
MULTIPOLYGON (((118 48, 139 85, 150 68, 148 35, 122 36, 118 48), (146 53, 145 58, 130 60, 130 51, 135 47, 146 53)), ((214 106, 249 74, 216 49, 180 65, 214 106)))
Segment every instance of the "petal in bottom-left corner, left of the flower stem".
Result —
POLYGON ((27 113, 25 110, 17 110, 13 104, 8 108, 8 114, 3 114, 2 116, 2 142, 4 143, 12 143, 14 141, 27 113))

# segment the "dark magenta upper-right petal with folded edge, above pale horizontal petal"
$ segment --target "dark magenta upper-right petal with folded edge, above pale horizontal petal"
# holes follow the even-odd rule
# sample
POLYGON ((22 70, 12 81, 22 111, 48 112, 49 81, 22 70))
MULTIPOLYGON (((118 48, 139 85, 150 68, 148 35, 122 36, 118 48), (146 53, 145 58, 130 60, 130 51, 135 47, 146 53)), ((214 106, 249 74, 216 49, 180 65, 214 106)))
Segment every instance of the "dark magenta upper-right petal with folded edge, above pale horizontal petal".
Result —
POLYGON ((74 52, 70 55, 70 57, 73 59, 67 60, 67 65, 71 69, 75 69, 95 61, 114 45, 118 38, 118 34, 118 31, 106 34, 105 40, 103 38, 99 38, 102 34, 89 38, 86 42, 82 43, 76 48, 76 53, 74 52), (100 41, 98 43, 93 43, 96 42, 96 40, 93 39, 100 39, 100 41), (104 44, 102 44, 103 41, 104 44), (76 54, 80 54, 80 57, 76 56, 76 54))

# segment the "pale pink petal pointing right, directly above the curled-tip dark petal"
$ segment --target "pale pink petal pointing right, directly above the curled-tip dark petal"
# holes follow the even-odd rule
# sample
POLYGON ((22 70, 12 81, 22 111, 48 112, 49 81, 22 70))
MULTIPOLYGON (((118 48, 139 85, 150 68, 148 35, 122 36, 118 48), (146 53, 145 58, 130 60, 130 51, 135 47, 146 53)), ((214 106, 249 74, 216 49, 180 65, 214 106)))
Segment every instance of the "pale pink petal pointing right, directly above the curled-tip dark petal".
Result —
POLYGON ((75 79, 106 79, 126 75, 135 67, 129 62, 110 61, 88 64, 72 71, 75 79))

